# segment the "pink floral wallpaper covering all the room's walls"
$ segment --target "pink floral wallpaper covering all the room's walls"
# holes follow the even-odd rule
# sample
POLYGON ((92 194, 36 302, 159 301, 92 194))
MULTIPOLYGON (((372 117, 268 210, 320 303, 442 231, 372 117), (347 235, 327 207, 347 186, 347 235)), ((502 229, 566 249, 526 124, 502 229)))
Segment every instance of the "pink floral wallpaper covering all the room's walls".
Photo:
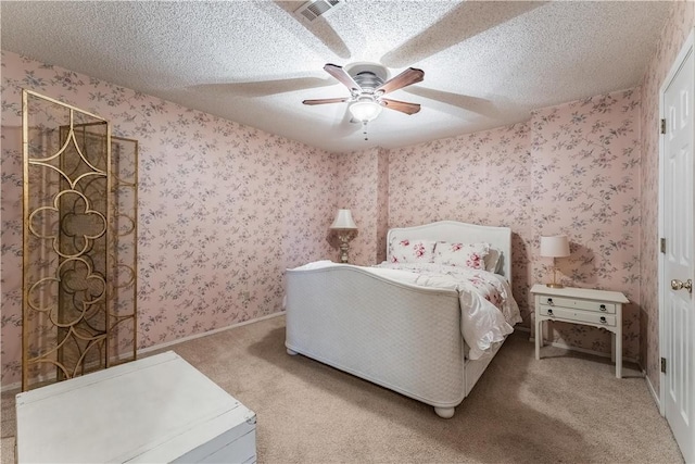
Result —
MULTIPOLYGON (((525 324, 528 288, 547 275, 539 237, 568 234, 564 281, 628 293, 626 355, 646 358, 658 386, 658 137, 641 135, 640 126, 656 124, 658 87, 693 26, 693 10, 692 2, 674 4, 635 91, 542 109, 508 127, 341 155, 3 52, 2 383, 16 381, 20 369, 22 177, 12 137, 17 89, 26 87, 140 140, 141 348, 279 311, 283 268, 336 259, 327 227, 336 208, 350 208, 359 226, 351 251, 357 264, 386 258, 388 227, 438 220, 511 227, 525 324)), ((609 349, 598 330, 556 329, 558 341, 609 349)))

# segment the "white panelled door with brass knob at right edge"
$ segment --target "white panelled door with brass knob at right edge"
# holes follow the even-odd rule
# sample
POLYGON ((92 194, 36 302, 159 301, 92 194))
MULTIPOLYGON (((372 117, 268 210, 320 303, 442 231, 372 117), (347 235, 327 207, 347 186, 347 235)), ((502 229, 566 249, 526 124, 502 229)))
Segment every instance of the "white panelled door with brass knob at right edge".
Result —
POLYGON ((662 288, 664 411, 686 462, 695 462, 695 202, 693 181, 693 34, 669 73, 661 95, 662 227, 666 238, 662 288))

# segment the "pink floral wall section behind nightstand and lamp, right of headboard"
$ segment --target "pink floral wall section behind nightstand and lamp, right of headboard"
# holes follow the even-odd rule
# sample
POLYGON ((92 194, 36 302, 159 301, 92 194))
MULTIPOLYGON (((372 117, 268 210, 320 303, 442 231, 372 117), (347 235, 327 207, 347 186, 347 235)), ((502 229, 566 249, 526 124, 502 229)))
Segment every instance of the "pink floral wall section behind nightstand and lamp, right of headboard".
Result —
MULTIPOLYGON (((626 90, 543 109, 531 116, 530 247, 533 281, 551 273, 538 255, 542 235, 566 234, 558 279, 568 286, 621 291, 623 353, 640 348, 640 92, 626 90)), ((610 352, 610 335, 553 324, 555 341, 610 352)))

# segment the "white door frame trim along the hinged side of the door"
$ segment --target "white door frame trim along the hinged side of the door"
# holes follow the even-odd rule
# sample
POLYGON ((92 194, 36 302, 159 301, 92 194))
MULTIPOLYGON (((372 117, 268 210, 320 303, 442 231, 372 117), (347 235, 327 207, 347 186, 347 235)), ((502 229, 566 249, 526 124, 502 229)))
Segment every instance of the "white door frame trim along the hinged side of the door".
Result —
MULTIPOLYGON (((695 40, 695 28, 691 30, 687 38, 683 42, 683 46, 681 47, 681 50, 678 53, 678 57, 671 64, 669 73, 666 75, 664 83, 659 87, 659 121, 666 117, 665 103, 664 103, 664 95, 666 92, 666 89, 669 87, 669 85, 675 77, 675 74, 678 73, 678 71, 684 64, 684 61, 687 54, 690 52, 695 53, 694 40, 695 40)), ((693 86, 695 87, 695 83, 693 84, 693 86)), ((694 89, 694 92, 695 92, 695 89, 694 89)), ((666 143, 666 138, 659 134, 659 202, 658 202, 658 208, 659 208, 658 236, 659 238, 664 237, 664 211, 665 211, 664 156, 666 151, 665 143, 666 143)), ((664 314, 664 309, 666 308, 666 296, 667 296, 668 288, 665 281, 665 272, 666 272, 665 254, 659 251, 658 255, 659 255, 659 259, 658 259, 659 271, 658 271, 657 285, 658 285, 658 299, 659 299, 658 301, 659 302, 659 358, 665 358, 666 350, 665 350, 664 339, 666 335, 666 316, 664 314)), ((695 353, 693 354, 695 356, 695 353)), ((662 416, 666 416, 666 388, 664 388, 665 385, 666 385, 666 374, 659 371, 659 413, 662 416)))

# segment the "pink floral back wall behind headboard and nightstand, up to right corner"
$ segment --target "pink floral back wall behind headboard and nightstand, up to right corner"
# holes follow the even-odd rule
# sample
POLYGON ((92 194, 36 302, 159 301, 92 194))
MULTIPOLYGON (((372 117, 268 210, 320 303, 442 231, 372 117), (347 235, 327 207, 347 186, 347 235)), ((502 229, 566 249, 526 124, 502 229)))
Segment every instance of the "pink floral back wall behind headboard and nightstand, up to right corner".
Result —
MULTIPOLYGON (((620 290, 624 354, 639 355, 639 92, 627 90, 534 112, 527 123, 390 153, 391 227, 458 220, 514 233, 514 291, 528 325, 528 290, 547 278, 541 235, 567 234, 561 280, 620 290)), ((609 352, 603 330, 556 324, 555 341, 609 352)))

